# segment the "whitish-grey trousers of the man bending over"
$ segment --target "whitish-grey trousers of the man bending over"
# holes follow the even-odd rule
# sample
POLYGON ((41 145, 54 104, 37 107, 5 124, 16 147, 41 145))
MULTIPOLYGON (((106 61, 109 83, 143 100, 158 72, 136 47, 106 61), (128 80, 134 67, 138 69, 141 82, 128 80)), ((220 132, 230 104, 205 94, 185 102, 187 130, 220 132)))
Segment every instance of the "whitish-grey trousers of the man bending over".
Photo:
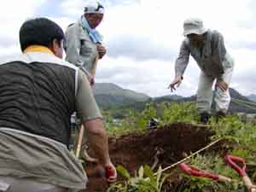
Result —
MULTIPOLYGON (((230 80, 233 73, 232 67, 226 68, 225 73, 222 75, 222 79, 226 84, 230 84, 230 80)), ((215 102, 216 111, 226 113, 230 106, 230 91, 222 91, 217 86, 214 87, 214 96, 212 94, 212 84, 216 78, 209 77, 205 73, 201 72, 199 85, 197 90, 197 108, 199 112, 210 112, 212 107, 212 97, 215 102)))

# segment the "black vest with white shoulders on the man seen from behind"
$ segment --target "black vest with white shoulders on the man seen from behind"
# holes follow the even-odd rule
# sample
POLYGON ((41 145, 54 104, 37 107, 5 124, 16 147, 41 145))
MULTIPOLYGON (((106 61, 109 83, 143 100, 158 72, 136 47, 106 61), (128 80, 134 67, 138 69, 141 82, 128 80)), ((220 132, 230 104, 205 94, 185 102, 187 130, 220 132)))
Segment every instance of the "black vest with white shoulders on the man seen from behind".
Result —
POLYGON ((23 55, 23 60, 0 64, 0 129, 26 131, 68 145, 77 69, 54 55, 32 55, 33 59, 23 55))

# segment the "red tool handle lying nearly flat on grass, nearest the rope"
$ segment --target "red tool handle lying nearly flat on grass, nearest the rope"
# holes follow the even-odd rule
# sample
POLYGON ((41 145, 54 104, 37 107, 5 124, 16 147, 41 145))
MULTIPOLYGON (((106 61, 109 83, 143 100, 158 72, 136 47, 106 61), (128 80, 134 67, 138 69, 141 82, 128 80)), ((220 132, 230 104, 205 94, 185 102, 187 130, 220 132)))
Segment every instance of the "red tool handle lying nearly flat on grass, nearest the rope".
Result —
POLYGON ((197 169, 195 167, 188 166, 185 163, 179 164, 179 167, 182 169, 183 172, 185 172, 189 175, 193 175, 193 176, 196 176, 196 177, 208 177, 208 178, 213 178, 213 179, 218 180, 218 175, 217 174, 202 171, 202 170, 197 169))

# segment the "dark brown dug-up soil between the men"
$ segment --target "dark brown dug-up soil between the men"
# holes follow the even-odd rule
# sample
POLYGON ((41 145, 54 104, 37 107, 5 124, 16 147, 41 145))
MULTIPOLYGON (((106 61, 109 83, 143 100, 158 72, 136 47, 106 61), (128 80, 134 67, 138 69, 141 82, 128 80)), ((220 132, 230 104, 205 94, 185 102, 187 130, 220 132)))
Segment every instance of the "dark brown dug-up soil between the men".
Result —
MULTIPOLYGON (((170 166, 186 155, 210 143, 212 133, 203 126, 172 124, 142 134, 109 138, 109 153, 113 164, 124 166, 131 174, 142 165, 170 166)), ((89 177, 84 192, 105 192, 108 183, 95 175, 96 166, 86 165, 89 177)))

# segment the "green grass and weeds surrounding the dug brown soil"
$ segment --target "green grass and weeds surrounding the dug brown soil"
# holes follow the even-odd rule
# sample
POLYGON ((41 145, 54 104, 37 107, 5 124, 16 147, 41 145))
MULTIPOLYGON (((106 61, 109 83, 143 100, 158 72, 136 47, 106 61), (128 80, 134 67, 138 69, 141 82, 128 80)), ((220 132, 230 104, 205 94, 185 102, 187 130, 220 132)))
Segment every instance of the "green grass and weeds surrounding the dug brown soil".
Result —
MULTIPOLYGON (((107 112, 105 112, 107 113, 107 112)), ((111 137, 119 137, 124 134, 129 134, 131 132, 140 132, 146 130, 146 125, 148 119, 157 118, 160 120, 160 125, 167 125, 171 123, 183 122, 183 123, 199 123, 199 114, 195 108, 195 103, 192 102, 163 102, 160 104, 148 103, 143 111, 137 112, 135 110, 129 110, 123 113, 124 118, 120 119, 119 125, 113 122, 113 113, 108 111, 108 118, 106 119, 106 126, 108 128, 108 134, 111 137)), ((226 141, 224 146, 222 146, 223 151, 240 156, 247 160, 247 163, 255 164, 256 157, 256 127, 253 124, 244 124, 241 119, 236 115, 230 115, 225 117, 216 123, 215 119, 210 121, 212 131, 214 131, 214 136, 212 140, 218 138, 223 138, 226 141)), ((221 152, 221 151, 220 151, 221 152)), ((178 191, 180 192, 244 192, 246 191, 243 184, 241 183, 241 178, 238 177, 237 173, 224 163, 223 157, 219 153, 212 151, 207 151, 205 154, 199 154, 190 160, 186 161, 191 166, 196 166, 200 169, 207 170, 209 172, 215 172, 218 174, 223 174, 227 177, 232 177, 236 179, 234 183, 220 183, 212 181, 211 179, 201 178, 201 177, 191 177, 181 173, 181 185, 178 191)), ((255 179, 253 174, 252 179, 255 179)), ((114 186, 118 186, 116 190, 112 188, 108 191, 122 191, 122 192, 143 192, 147 189, 143 182, 142 189, 131 190, 129 184, 136 180, 137 176, 126 177, 123 182, 115 183, 114 186), (121 190, 122 189, 122 190, 121 190)), ((143 178, 144 179, 144 178, 143 178)), ((153 178, 152 178, 153 179, 153 178)), ((134 183, 133 183, 134 184, 134 183)), ((150 184, 150 182, 148 183, 150 184)), ((134 186, 133 186, 134 187, 134 186)), ((151 191, 151 190, 150 190, 151 191)), ((159 189, 152 191, 160 191, 159 189)))

